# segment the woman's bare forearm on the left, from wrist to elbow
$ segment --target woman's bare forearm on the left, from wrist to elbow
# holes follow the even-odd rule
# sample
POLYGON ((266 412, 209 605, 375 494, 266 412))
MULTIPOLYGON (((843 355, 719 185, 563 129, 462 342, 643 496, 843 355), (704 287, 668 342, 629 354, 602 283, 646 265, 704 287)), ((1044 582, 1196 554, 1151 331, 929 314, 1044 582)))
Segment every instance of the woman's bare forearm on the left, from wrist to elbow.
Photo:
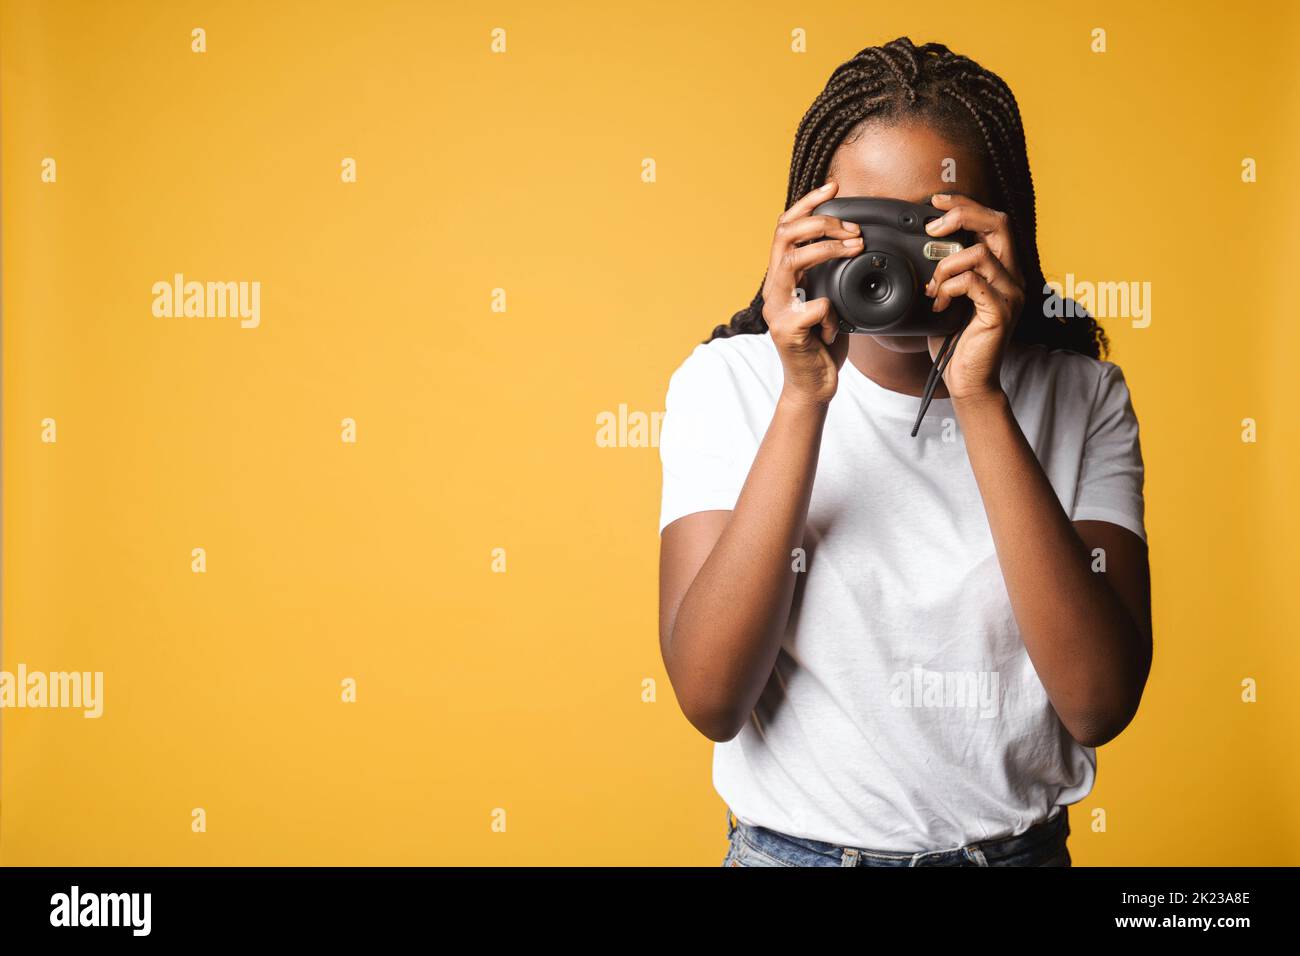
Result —
POLYGON ((677 698, 715 740, 740 732, 776 663, 826 414, 824 403, 777 402, 736 507, 666 640, 677 698))

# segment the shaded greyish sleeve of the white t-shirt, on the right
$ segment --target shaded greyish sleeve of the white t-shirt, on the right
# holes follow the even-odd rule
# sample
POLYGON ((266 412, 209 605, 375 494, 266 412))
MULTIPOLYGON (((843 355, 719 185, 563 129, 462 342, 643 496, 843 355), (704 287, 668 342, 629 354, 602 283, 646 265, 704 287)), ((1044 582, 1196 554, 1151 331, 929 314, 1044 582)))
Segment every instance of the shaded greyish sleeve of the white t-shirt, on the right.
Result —
POLYGON ((1088 419, 1074 522, 1110 522, 1147 540, 1143 460, 1128 385, 1118 365, 1102 363, 1088 419))

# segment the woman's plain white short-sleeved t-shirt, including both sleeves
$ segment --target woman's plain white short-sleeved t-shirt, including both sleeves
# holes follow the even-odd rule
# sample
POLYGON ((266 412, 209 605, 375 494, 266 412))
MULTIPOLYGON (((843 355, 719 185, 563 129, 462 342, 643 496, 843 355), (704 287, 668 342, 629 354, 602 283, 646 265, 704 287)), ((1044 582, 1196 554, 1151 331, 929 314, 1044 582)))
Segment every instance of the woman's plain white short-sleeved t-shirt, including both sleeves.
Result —
MULTIPOLYGON (((1145 540, 1119 367, 1013 343, 1001 378, 1070 519, 1145 540)), ((781 382, 768 334, 697 346, 677 368, 660 531, 734 509, 781 382)), ((845 362, 776 667, 740 735, 714 748, 714 786, 746 823, 945 849, 1023 832, 1092 790, 1096 750, 1070 737, 1030 662, 952 399, 913 438, 919 401, 845 362)))

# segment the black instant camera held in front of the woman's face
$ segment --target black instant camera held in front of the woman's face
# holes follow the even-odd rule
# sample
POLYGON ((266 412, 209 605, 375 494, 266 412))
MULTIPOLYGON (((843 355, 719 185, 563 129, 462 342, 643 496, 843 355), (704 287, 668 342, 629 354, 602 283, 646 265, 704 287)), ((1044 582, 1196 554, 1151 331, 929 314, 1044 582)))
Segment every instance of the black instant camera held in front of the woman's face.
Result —
POLYGON ((858 255, 819 263, 803 276, 805 298, 828 298, 844 332, 946 336, 971 317, 974 307, 965 295, 935 312, 935 300, 924 293, 939 260, 975 242, 965 230, 941 237, 927 233, 926 222, 942 216, 941 209, 901 199, 844 196, 828 199, 812 215, 862 228, 858 255))

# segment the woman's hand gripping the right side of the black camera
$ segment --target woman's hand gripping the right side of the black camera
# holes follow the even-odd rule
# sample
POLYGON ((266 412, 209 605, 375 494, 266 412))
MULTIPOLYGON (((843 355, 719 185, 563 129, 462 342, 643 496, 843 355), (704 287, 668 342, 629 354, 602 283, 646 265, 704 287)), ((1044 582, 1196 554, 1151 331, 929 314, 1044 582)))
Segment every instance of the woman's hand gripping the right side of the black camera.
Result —
MULTIPOLYGON (((931 204, 944 215, 926 226, 927 233, 941 237, 966 229, 979 239, 941 259, 926 286, 926 294, 935 297, 936 312, 958 295, 975 303, 975 313, 944 372, 944 384, 956 402, 996 395, 1002 390, 1002 352, 1024 304, 1024 278, 1015 263, 1010 221, 1005 212, 963 195, 939 194, 931 204)), ((930 338, 931 356, 942 342, 942 337, 930 338)))

